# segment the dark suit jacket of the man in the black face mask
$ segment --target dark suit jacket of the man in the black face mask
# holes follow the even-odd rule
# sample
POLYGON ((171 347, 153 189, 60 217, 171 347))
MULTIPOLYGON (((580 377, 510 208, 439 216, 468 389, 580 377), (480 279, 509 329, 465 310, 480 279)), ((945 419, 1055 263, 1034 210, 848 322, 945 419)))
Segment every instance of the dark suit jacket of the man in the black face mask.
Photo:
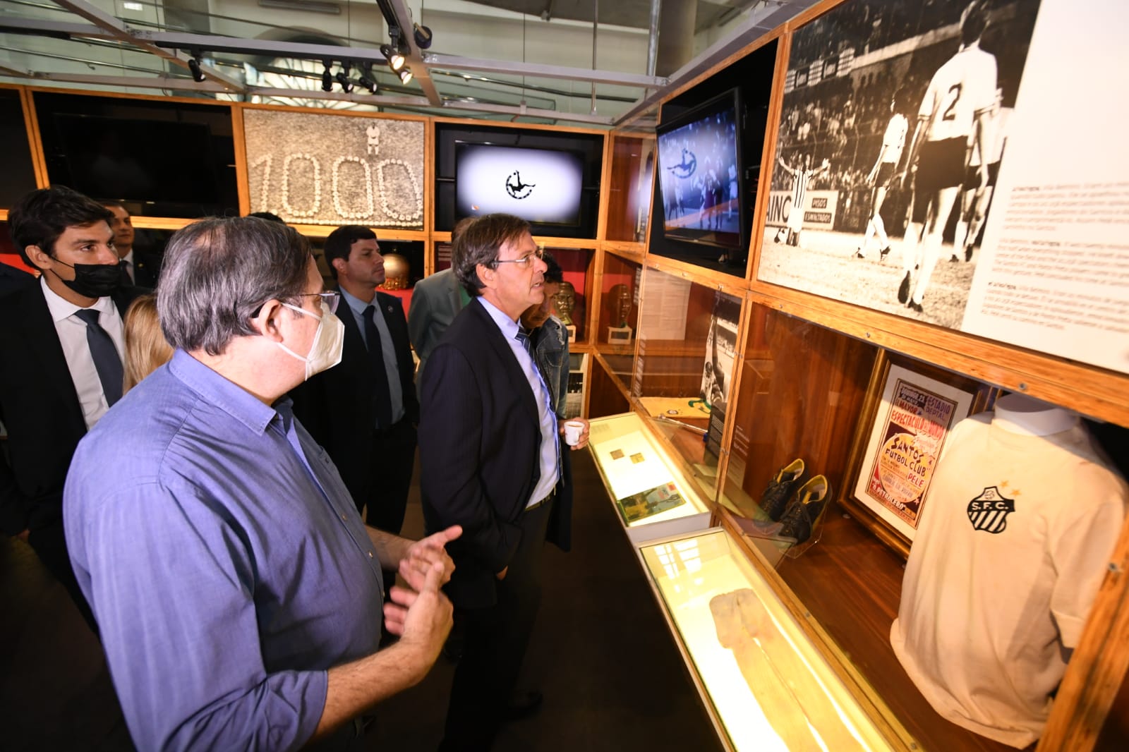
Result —
MULTIPOLYGON (((141 292, 114 292, 117 311, 141 292)), ((0 528, 15 535, 61 519, 63 481, 86 421, 41 286, 0 297, 0 421, 9 436, 0 528)))

